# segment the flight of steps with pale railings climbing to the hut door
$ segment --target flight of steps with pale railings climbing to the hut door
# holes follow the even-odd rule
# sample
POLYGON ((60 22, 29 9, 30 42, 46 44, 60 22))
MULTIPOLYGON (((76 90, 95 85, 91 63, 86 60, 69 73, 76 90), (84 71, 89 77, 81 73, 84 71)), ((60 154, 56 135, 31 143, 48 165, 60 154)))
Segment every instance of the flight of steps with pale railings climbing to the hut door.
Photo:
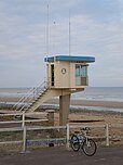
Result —
MULTIPOLYGON (((35 111, 39 106, 39 101, 44 98, 47 92, 47 82, 44 81, 37 88, 31 88, 14 106, 15 111, 27 112, 35 111)), ((43 99, 44 100, 44 99, 43 99)))

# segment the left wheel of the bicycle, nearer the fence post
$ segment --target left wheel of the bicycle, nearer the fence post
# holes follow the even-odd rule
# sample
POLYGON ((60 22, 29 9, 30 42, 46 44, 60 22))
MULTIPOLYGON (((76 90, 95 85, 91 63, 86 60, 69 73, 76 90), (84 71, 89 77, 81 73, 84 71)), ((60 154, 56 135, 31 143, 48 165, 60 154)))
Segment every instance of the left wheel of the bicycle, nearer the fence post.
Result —
POLYGON ((80 149, 80 141, 79 141, 79 138, 76 135, 73 135, 71 137, 70 144, 71 144, 71 148, 72 148, 72 150, 74 152, 79 151, 79 149, 80 149))

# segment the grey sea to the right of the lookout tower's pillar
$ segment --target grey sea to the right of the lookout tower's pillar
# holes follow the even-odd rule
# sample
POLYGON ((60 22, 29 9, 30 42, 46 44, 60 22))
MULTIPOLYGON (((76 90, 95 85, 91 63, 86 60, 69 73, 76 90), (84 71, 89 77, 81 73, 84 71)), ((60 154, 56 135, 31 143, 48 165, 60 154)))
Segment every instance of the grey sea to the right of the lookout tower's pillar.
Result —
MULTIPOLYGON (((72 94, 72 99, 91 101, 123 102, 123 87, 87 87, 84 91, 72 94)), ((77 107, 81 110, 81 106, 77 107)), ((90 111, 109 111, 123 113, 123 109, 107 106, 83 106, 90 111)))

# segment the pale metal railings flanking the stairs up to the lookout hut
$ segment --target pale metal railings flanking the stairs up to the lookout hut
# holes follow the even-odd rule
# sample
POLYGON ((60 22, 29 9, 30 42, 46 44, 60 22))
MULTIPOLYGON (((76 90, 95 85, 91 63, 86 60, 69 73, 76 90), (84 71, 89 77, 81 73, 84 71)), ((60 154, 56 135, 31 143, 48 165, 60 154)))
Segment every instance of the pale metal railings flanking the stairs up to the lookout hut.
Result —
POLYGON ((24 111, 25 107, 28 109, 30 104, 36 102, 36 100, 43 94, 47 89, 47 81, 43 81, 41 85, 36 88, 31 88, 18 102, 13 106, 15 111, 24 111))

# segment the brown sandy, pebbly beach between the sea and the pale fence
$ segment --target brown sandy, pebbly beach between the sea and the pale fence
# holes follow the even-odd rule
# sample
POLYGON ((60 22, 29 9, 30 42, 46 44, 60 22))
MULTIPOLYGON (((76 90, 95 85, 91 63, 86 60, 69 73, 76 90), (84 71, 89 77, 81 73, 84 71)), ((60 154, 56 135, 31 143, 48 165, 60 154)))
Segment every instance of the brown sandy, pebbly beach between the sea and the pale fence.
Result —
MULTIPOLYGON (((16 102, 18 98, 2 98, 2 102, 16 102)), ((58 104, 58 99, 51 99, 45 102, 45 104, 58 104)), ((110 136, 123 136, 123 113, 108 111, 110 107, 121 109, 123 107, 123 102, 112 102, 112 101, 92 101, 92 100, 71 100, 71 105, 82 105, 82 106, 102 106, 107 107, 107 111, 95 111, 95 110, 70 110, 69 112, 69 124, 77 126, 102 126, 102 125, 113 125, 113 129, 110 128, 110 136), (122 127, 115 127, 114 125, 122 125, 122 127)), ((42 110, 39 110, 42 111, 42 110)), ((44 110, 43 110, 44 111, 44 110)), ((59 125, 59 112, 54 113, 54 124, 59 125)), ((106 134, 106 128, 95 128, 91 129, 91 135, 104 136, 106 134)), ((104 144, 106 142, 104 141, 104 144)), ((123 144, 123 140, 120 138, 113 138, 111 143, 123 144)))

